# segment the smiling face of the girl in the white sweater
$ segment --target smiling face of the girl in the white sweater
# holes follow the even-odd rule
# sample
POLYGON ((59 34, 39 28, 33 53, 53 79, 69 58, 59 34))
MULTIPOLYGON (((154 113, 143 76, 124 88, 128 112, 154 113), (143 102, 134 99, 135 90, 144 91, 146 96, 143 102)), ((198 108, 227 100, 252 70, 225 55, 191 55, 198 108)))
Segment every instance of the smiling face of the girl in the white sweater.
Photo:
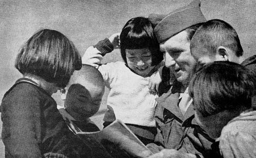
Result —
POLYGON ((125 54, 128 67, 140 76, 148 76, 154 68, 149 48, 125 49, 125 54))

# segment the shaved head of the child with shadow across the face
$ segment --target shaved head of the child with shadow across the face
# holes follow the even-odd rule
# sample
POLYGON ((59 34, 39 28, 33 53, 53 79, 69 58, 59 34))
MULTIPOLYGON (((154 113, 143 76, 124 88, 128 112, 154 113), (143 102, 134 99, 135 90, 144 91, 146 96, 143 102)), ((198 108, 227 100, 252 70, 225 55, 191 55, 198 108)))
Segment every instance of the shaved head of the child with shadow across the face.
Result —
POLYGON ((103 93, 101 73, 93 66, 83 64, 71 76, 65 100, 66 110, 77 121, 86 120, 99 110, 103 93))

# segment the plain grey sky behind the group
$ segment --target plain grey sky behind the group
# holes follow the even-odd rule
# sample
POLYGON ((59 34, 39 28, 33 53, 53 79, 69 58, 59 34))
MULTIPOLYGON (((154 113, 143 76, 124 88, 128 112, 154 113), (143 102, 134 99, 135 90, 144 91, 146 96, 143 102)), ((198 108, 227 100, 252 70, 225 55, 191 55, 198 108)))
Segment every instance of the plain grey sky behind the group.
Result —
MULTIPOLYGON (((17 78, 21 77, 14 68, 18 49, 39 29, 53 29, 65 34, 74 42, 82 56, 90 45, 120 32, 127 20, 136 16, 147 17, 150 13, 167 14, 190 2, 190 0, 0 0, 1 100, 17 78)), ((201 10, 206 19, 219 18, 236 29, 246 58, 255 54, 256 2, 254 0, 202 0, 201 10)), ((104 57, 103 63, 118 60, 121 60, 121 56, 119 50, 115 50, 104 57)), ((108 90, 105 92, 101 110, 105 107, 108 90)), ((54 98, 58 99, 58 95, 55 94, 54 98)))

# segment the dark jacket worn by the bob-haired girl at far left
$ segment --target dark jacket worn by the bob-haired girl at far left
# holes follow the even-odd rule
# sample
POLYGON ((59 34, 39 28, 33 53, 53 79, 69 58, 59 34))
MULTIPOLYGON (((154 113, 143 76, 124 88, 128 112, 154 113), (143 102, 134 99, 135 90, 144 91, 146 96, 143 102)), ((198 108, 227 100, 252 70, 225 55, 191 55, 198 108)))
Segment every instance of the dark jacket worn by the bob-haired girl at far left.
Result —
POLYGON ((5 157, 95 157, 68 129, 55 100, 28 78, 6 92, 1 113, 5 157))

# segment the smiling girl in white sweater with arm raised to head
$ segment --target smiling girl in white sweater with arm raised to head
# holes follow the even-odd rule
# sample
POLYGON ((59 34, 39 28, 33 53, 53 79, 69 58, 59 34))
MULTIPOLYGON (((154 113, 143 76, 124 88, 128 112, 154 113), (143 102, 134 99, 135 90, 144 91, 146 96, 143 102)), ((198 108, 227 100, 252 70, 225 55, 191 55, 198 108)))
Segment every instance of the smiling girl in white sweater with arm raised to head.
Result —
POLYGON ((118 45, 118 34, 90 46, 82 63, 98 68, 110 89, 104 126, 115 119, 126 123, 139 139, 148 144, 155 138, 154 111, 157 94, 150 93, 150 76, 157 71, 163 55, 147 18, 130 19, 120 34, 123 62, 101 65, 102 57, 118 45))

